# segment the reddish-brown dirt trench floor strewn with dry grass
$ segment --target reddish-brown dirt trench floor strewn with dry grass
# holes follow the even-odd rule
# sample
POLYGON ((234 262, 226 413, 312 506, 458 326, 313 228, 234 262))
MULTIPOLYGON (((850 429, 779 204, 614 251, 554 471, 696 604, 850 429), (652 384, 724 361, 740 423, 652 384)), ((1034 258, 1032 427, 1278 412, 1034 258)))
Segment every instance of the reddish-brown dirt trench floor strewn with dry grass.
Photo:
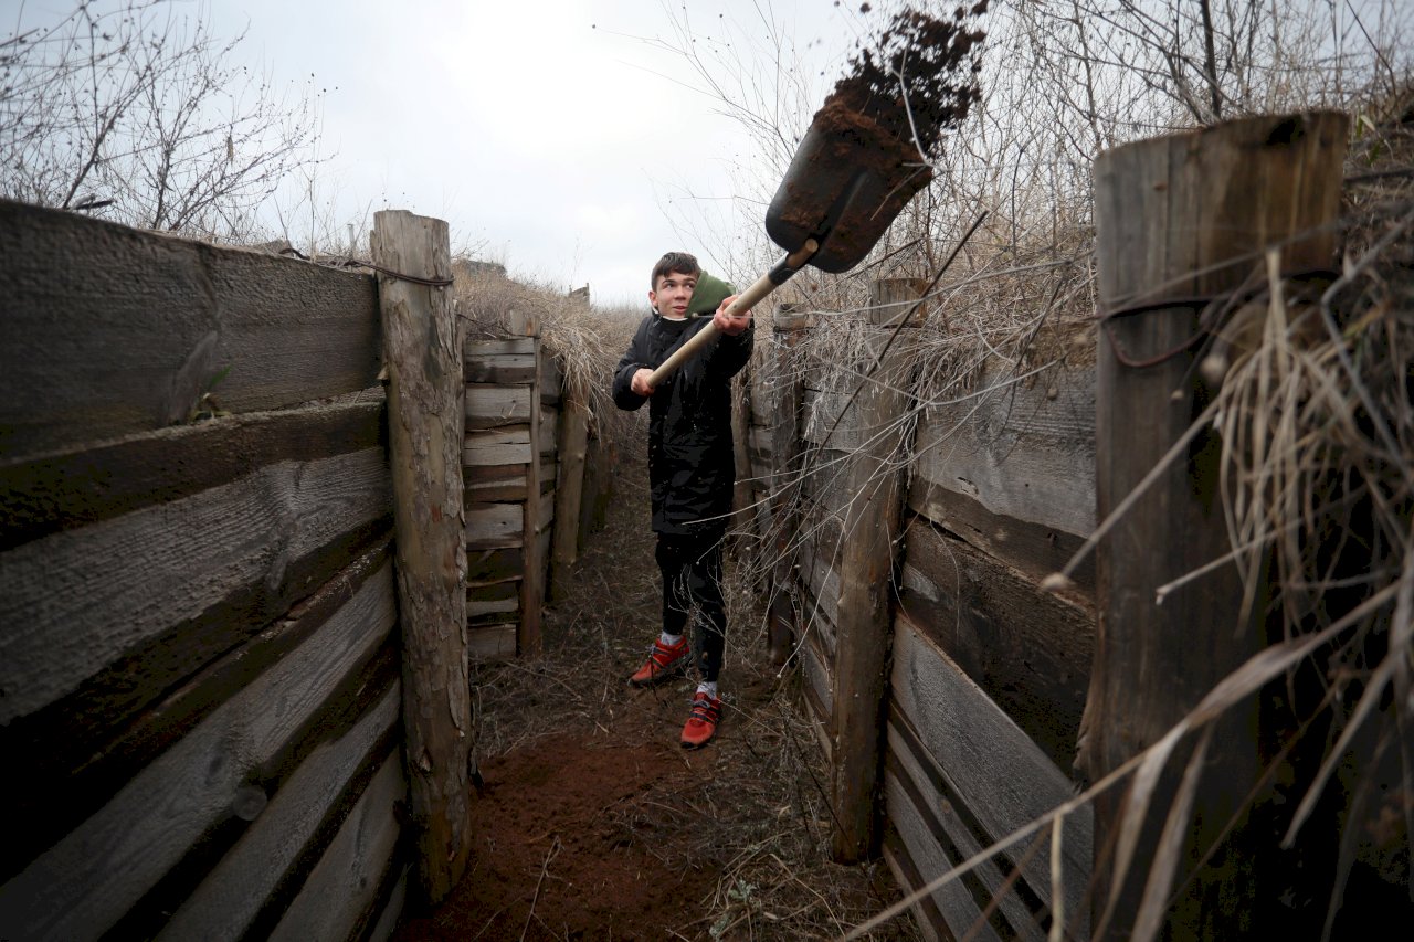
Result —
MULTIPOLYGON (((679 745, 693 683, 626 686, 659 612, 646 494, 629 450, 605 529, 546 614, 544 655, 474 670, 472 861, 399 942, 833 939, 899 898, 882 863, 829 863, 817 734, 731 554, 717 738, 679 745)), ((868 938, 919 936, 905 917, 868 938)))

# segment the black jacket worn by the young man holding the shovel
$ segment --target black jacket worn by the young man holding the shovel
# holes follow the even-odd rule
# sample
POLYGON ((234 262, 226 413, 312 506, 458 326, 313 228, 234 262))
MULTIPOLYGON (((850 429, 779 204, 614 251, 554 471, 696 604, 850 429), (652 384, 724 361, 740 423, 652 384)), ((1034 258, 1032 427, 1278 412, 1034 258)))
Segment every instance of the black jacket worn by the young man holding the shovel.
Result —
POLYGON ((614 371, 614 405, 648 412, 648 478, 653 530, 706 536, 727 529, 737 479, 731 444, 731 378, 751 358, 752 328, 718 335, 690 358, 652 396, 631 388, 633 373, 658 369, 710 317, 670 321, 658 311, 643 318, 614 371))

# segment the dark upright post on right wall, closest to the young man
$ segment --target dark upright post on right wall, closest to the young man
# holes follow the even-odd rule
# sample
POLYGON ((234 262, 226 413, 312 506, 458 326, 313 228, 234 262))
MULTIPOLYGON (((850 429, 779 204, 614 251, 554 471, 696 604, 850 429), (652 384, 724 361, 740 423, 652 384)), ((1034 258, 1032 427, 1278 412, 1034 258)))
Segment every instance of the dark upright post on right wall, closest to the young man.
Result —
MULTIPOLYGON (((795 540, 800 530, 800 400, 805 380, 799 375, 793 348, 810 327, 810 315, 797 313, 795 304, 776 307, 771 330, 775 338, 775 364, 772 364, 772 385, 769 392, 769 414, 775 420, 771 429, 771 479, 769 521, 771 553, 771 627, 768 644, 771 662, 783 665, 795 649, 796 607, 795 607, 795 540)), ((764 537, 766 535, 762 535, 764 537)))

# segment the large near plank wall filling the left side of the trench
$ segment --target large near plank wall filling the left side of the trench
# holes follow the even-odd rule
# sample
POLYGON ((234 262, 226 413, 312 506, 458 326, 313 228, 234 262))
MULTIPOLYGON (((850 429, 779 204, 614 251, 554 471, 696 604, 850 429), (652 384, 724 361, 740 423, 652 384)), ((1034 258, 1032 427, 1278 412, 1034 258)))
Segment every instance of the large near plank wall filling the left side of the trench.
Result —
POLYGON ((0 201, 0 938, 386 935, 373 280, 0 201))

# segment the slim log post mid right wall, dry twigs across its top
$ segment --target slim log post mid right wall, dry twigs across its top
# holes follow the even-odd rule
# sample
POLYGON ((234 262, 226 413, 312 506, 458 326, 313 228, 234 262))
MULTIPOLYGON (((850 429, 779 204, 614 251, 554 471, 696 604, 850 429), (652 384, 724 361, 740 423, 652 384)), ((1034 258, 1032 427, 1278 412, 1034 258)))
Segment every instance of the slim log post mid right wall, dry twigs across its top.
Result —
MULTIPOLYGON (((919 297, 913 279, 875 281, 870 287, 870 314, 875 324, 896 322, 919 297)), ((831 851, 840 863, 864 860, 878 851, 880 769, 885 738, 892 622, 889 586, 899 533, 901 481, 898 451, 909 409, 905 375, 911 328, 892 345, 892 327, 878 327, 874 356, 882 356, 848 413, 865 444, 850 455, 839 571, 839 621, 834 655, 834 743, 831 851)), ((865 364, 867 369, 870 364, 865 364)))

